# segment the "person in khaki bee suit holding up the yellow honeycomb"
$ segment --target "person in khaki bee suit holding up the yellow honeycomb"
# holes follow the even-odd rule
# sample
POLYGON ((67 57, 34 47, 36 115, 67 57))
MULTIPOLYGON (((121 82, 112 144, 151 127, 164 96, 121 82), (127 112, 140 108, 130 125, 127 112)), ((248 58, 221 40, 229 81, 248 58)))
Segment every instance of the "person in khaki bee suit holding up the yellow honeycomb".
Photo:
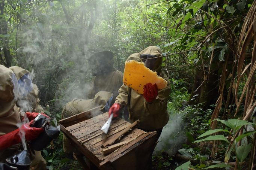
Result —
MULTIPOLYGON (((160 137, 163 127, 169 120, 167 113, 167 99, 170 94, 170 82, 167 75, 161 70, 163 58, 161 50, 156 46, 149 46, 139 53, 130 55, 126 61, 136 60, 144 62, 145 66, 157 75, 164 78, 168 84, 167 87, 158 90, 157 85, 148 83, 144 85, 143 95, 138 94, 135 90, 126 85, 122 85, 119 89, 114 104, 109 109, 109 115, 113 113, 113 117, 119 115, 121 107, 128 106, 129 118, 131 122, 140 120, 137 125, 138 128, 145 131, 157 131, 157 139, 160 137)), ((157 142, 157 140, 156 140, 157 142)), ((151 156, 154 151, 155 145, 152 150, 145 153, 148 157, 149 163, 145 164, 145 169, 150 169, 152 164, 151 156)), ((143 163, 142 163, 143 164, 143 163)))

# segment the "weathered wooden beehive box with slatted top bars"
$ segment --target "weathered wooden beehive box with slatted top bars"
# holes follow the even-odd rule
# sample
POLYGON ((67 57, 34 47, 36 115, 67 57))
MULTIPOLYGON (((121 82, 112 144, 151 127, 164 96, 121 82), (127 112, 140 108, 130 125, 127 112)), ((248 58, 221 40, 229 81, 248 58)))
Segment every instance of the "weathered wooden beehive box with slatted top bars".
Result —
POLYGON ((145 153, 154 149, 156 131, 145 132, 133 128, 116 142, 122 142, 125 145, 108 155, 104 155, 101 148, 102 144, 131 123, 117 118, 113 120, 108 134, 105 135, 100 129, 108 119, 108 112, 88 119, 88 115, 97 109, 98 107, 60 120, 61 131, 71 140, 74 148, 85 155, 99 169, 143 169, 145 167, 143 164, 147 164, 145 153))

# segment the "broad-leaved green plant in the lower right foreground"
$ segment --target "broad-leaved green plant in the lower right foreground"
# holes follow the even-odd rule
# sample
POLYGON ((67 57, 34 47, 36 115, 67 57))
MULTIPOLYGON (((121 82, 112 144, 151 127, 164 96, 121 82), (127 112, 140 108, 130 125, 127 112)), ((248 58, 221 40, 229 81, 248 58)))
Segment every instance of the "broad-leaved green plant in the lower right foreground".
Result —
MULTIPOLYGON (((251 142, 247 142, 247 141, 255 140, 253 134, 256 133, 256 131, 252 127, 253 127, 253 125, 256 125, 256 124, 252 123, 252 122, 245 121, 245 120, 239 120, 239 119, 228 119, 227 121, 221 120, 221 119, 215 119, 215 120, 224 124, 226 126, 226 128, 208 130, 198 137, 198 138, 205 137, 204 139, 196 140, 196 141, 194 141, 194 143, 218 140, 220 142, 224 142, 223 144, 225 144, 227 146, 226 153, 225 153, 224 160, 222 162, 218 161, 219 163, 217 163, 217 164, 211 163, 213 165, 208 166, 207 168, 203 168, 203 169, 234 168, 228 164, 230 157, 236 158, 238 160, 238 161, 236 161, 238 170, 244 169, 245 168, 244 164, 246 162, 245 160, 247 159, 247 157, 252 149, 251 142), (244 133, 242 133, 242 134, 239 133, 241 131, 241 129, 244 130, 244 133), (219 133, 224 133, 226 135, 219 134, 219 133), (212 134, 214 134, 214 135, 212 135, 212 134), (210 135, 212 135, 212 136, 210 136, 210 135), (206 137, 206 136, 208 136, 208 137, 206 137), (249 136, 251 137, 251 139, 249 138, 249 136), (232 155, 234 155, 234 156, 232 156, 232 155)), ((182 164, 181 166, 177 167, 176 170, 182 170, 184 168, 188 169, 188 167, 193 167, 190 164, 191 164, 191 162, 188 161, 188 162, 182 164)))

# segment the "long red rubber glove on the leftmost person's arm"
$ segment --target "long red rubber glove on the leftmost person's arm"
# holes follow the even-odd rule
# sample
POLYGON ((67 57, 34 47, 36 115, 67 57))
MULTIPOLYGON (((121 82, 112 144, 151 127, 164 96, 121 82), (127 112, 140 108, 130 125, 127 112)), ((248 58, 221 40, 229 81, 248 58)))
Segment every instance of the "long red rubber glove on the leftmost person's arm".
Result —
MULTIPOLYGON (((20 127, 25 132, 26 140, 33 140, 36 137, 38 137, 40 133, 44 131, 44 129, 42 128, 30 127, 30 124, 32 124, 32 122, 33 121, 23 124, 20 127)), ((6 149, 9 146, 12 146, 21 142, 21 138, 19 135, 20 128, 14 131, 11 131, 3 136, 0 136, 0 150, 6 149)))

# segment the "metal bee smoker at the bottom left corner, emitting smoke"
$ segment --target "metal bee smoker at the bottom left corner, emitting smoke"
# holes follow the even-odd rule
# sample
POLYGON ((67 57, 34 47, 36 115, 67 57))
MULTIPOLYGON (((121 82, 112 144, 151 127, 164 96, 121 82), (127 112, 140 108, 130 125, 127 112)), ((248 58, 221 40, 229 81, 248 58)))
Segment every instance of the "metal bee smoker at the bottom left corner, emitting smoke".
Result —
POLYGON ((29 152, 27 150, 23 150, 17 155, 7 158, 6 162, 10 166, 17 167, 18 170, 29 170, 31 164, 29 152))

